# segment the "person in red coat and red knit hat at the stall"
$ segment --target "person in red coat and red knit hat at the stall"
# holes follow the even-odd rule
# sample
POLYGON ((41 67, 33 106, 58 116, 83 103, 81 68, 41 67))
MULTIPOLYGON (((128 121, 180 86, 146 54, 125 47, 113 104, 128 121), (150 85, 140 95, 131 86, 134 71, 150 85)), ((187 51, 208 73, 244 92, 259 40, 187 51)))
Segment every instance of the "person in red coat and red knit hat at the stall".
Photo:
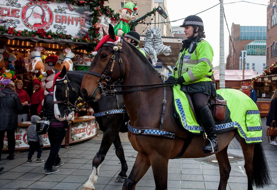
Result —
POLYGON ((33 87, 35 92, 31 97, 30 114, 40 116, 42 111, 42 100, 44 99, 44 90, 40 87, 40 81, 38 79, 33 80, 33 87))

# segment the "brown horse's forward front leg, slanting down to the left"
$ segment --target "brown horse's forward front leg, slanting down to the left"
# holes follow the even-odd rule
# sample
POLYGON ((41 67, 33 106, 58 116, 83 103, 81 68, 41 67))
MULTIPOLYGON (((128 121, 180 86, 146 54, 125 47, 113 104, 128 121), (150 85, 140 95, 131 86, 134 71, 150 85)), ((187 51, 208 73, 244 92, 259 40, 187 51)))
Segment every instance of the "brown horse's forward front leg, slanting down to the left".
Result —
POLYGON ((144 176, 149 167, 150 162, 147 161, 141 153, 138 153, 132 171, 123 184, 122 190, 134 190, 136 188, 136 183, 144 176))

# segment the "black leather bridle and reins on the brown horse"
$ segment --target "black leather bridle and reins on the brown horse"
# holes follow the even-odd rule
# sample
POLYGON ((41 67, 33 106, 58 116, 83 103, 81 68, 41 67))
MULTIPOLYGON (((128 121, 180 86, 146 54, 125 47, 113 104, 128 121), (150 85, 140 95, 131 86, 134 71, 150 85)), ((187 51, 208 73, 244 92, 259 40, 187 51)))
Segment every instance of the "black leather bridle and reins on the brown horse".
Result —
MULTIPOLYGON (((168 83, 158 83, 158 84, 139 84, 139 85, 114 85, 110 84, 111 83, 111 75, 113 73, 113 69, 115 66, 115 60, 117 58, 117 55, 119 55, 119 66, 120 66, 120 78, 118 79, 119 82, 123 81, 123 61, 121 58, 121 53, 123 52, 122 50, 122 45, 123 45, 123 39, 121 38, 120 42, 117 42, 117 45, 115 44, 110 44, 110 43, 104 43, 102 46, 108 46, 113 48, 113 55, 111 57, 111 60, 108 62, 106 69, 104 70, 103 74, 96 73, 93 71, 87 71, 86 74, 91 74, 94 76, 99 76, 100 79, 97 81, 99 84, 99 88, 102 90, 102 95, 105 96, 114 96, 114 95, 119 95, 123 93, 128 93, 128 92, 135 92, 135 91, 143 91, 143 90, 150 90, 150 89, 156 89, 160 87, 166 87, 166 86, 173 86, 175 84, 178 84, 178 82, 168 82, 168 83), (111 69, 109 70, 109 68, 111 69), (109 70, 109 71, 108 71, 109 70), (102 80, 106 80, 104 82, 101 82, 102 80), (145 88, 140 88, 140 89, 130 89, 130 90, 123 90, 123 91, 117 91, 116 88, 120 87, 143 87, 143 86, 151 86, 151 87, 145 87, 145 88), (109 90, 109 91, 106 91, 109 90)), ((99 50, 100 51, 100 50, 99 50)))

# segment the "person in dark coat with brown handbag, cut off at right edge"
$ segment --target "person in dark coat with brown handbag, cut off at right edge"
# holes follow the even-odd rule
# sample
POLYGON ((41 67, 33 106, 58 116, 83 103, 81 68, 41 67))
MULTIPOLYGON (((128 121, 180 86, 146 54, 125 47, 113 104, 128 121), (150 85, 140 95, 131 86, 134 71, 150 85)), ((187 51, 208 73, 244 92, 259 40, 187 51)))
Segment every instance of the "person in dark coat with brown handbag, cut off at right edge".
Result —
MULTIPOLYGON (((271 102, 270 102, 270 109, 267 115, 266 119, 266 125, 267 126, 273 126, 275 127, 277 125, 276 123, 276 116, 277 116, 277 90, 274 91, 271 102)), ((274 137, 271 136, 271 140, 273 140, 274 137)), ((272 141, 270 144, 277 145, 277 142, 272 141)))

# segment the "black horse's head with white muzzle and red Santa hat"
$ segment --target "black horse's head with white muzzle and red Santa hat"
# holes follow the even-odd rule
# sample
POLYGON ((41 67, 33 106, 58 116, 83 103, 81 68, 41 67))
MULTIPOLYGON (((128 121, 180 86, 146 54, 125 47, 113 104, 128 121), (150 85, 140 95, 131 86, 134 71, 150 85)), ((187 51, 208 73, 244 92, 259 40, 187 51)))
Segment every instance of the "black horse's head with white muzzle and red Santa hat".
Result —
POLYGON ((80 86, 69 81, 66 76, 66 69, 63 67, 62 71, 56 71, 54 87, 54 114, 59 121, 70 120, 70 107, 74 107, 76 99, 79 97, 80 86), (68 89, 67 89, 68 88, 68 89), (74 88, 74 90, 72 89, 74 88), (70 104, 68 104, 70 102, 70 104))

